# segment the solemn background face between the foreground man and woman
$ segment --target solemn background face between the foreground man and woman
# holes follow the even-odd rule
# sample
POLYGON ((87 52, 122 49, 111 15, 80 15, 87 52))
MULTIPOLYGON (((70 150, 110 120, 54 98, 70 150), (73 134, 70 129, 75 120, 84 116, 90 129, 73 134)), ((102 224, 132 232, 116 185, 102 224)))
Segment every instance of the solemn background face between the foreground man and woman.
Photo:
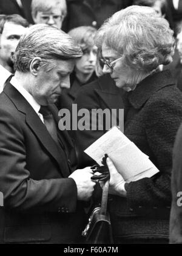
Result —
POLYGON ((97 47, 93 46, 83 50, 83 57, 76 61, 75 71, 85 75, 95 71, 97 47))

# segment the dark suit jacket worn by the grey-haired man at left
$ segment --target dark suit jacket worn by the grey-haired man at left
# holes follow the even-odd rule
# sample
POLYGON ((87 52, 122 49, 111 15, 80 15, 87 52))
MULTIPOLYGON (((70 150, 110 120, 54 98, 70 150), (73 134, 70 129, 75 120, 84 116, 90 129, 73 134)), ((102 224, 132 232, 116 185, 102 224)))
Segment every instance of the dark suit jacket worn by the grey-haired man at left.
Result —
MULTIPOLYGON (((50 106, 55 121, 58 111, 50 106)), ((84 210, 77 201, 72 140, 61 147, 38 114, 10 84, 0 95, 0 243, 77 243, 84 210)))

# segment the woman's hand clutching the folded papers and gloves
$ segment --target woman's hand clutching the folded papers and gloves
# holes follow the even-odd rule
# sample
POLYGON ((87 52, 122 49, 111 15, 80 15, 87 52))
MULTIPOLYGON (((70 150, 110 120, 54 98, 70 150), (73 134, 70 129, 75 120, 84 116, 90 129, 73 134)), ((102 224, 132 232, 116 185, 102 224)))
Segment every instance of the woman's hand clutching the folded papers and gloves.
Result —
POLYGON ((110 182, 109 182, 109 193, 112 195, 124 196, 126 197, 126 190, 124 189, 124 184, 126 183, 123 177, 118 173, 115 165, 107 158, 107 166, 110 171, 110 182))

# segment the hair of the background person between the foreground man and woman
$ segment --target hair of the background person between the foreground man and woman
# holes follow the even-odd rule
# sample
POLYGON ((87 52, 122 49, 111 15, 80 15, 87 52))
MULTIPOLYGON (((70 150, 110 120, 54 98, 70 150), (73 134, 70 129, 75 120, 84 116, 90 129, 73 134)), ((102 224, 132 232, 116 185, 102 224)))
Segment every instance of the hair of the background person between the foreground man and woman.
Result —
POLYGON ((76 27, 69 31, 69 35, 76 41, 84 51, 95 46, 95 36, 97 30, 90 26, 76 27))

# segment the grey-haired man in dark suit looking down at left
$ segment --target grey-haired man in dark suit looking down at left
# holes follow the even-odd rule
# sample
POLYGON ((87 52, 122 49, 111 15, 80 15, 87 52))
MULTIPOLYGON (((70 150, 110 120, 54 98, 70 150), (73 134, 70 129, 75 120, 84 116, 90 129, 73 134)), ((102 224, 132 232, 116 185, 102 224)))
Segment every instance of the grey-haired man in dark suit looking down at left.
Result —
POLYGON ((14 55, 15 77, 0 95, 0 243, 78 243, 89 167, 76 170, 73 142, 58 131, 53 103, 82 52, 69 35, 32 26, 14 55))

